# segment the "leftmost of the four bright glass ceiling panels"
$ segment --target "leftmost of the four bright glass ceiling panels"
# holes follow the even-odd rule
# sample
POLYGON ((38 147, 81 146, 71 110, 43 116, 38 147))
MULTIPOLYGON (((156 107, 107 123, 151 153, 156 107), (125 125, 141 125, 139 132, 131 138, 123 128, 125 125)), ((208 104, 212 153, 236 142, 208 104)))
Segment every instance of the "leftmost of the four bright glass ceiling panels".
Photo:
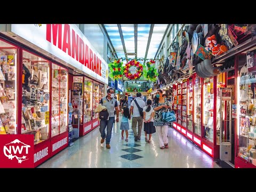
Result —
POLYGON ((117 57, 118 58, 125 58, 124 49, 121 41, 121 37, 119 34, 119 30, 117 24, 104 24, 107 33, 109 35, 110 41, 112 42, 117 57))

